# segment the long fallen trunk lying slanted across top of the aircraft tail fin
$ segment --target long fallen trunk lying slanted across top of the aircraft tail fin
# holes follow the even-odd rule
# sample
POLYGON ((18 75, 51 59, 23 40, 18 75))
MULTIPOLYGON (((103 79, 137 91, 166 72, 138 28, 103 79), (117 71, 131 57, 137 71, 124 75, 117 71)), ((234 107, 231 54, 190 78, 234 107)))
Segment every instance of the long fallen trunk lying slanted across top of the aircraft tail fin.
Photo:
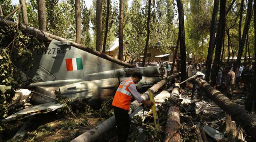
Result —
MULTIPOLYGON (((10 20, 7 20, 7 19, 4 19, 4 18, 0 17, 0 26, 8 26, 8 25, 16 25, 16 24, 17 24, 16 22, 13 22, 13 21, 10 21, 10 20)), ((47 32, 41 31, 41 30, 39 30, 37 28, 26 26, 26 25, 22 25, 22 24, 19 25, 19 29, 22 30, 22 32, 24 32, 24 33, 28 33, 28 34, 34 35, 35 37, 37 37, 37 38, 39 38, 39 39, 41 39, 43 41, 48 41, 49 42, 49 41, 52 41, 52 39, 55 39, 57 41, 69 41, 69 40, 61 38, 59 36, 56 36, 56 35, 49 34, 47 32)), ((132 64, 126 63, 126 62, 118 60, 118 59, 116 59, 114 57, 108 56, 106 54, 102 54, 99 51, 96 51, 96 50, 90 49, 88 47, 85 47, 82 44, 78 44, 78 43, 73 42, 73 41, 69 41, 69 42, 71 42, 72 46, 74 46, 74 47, 76 47, 78 49, 81 49, 81 50, 89 52, 89 53, 91 53, 93 55, 99 56, 99 57, 104 58, 104 59, 106 59, 108 61, 114 62, 116 64, 119 64, 119 65, 122 65, 122 66, 125 66, 125 67, 135 67, 132 64)))

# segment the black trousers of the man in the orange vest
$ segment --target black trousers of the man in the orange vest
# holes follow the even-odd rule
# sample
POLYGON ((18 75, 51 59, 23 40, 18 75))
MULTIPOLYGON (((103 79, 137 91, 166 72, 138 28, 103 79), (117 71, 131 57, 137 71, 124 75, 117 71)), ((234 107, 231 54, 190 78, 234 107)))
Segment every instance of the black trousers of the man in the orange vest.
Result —
POLYGON ((115 106, 113 106, 113 108, 116 118, 118 142, 126 142, 130 130, 128 110, 124 110, 115 106))

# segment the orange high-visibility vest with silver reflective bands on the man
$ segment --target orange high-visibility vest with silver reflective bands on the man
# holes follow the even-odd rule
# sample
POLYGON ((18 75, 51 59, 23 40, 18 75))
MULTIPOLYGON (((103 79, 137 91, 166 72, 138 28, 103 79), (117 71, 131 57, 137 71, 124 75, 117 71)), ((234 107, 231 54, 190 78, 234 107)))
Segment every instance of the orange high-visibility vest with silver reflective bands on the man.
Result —
POLYGON ((116 90, 112 106, 129 110, 132 100, 132 93, 130 92, 128 86, 131 83, 134 84, 134 82, 130 79, 126 79, 120 83, 119 87, 116 90))

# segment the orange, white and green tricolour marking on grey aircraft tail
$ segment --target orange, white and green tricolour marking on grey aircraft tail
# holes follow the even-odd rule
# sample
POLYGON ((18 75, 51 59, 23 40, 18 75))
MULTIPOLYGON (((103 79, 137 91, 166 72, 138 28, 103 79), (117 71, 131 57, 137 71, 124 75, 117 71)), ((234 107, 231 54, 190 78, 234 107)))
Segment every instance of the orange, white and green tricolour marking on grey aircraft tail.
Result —
POLYGON ((67 71, 83 70, 82 58, 66 59, 67 71))

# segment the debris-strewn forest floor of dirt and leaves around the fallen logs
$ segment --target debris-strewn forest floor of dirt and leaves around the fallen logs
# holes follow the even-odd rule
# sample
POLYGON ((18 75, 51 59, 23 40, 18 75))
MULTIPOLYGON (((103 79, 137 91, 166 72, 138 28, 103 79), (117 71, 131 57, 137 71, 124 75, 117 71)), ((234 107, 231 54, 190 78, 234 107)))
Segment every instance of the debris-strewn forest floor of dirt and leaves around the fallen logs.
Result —
MULTIPOLYGON (((206 98, 203 95, 203 92, 197 88, 195 92, 195 100, 194 106, 187 106, 182 107, 180 106, 180 136, 182 141, 197 141, 197 136, 195 133, 194 125, 201 122, 204 125, 208 125, 214 128, 217 131, 220 131, 224 134, 225 138, 221 141, 227 141, 227 134, 225 133, 226 124, 225 124, 225 112, 219 108, 213 101, 206 98)), ((219 89, 221 92, 225 93, 225 89, 219 89)), ((235 89, 233 93, 232 100, 239 104, 240 106, 244 107, 244 102, 247 97, 247 93, 243 93, 241 89, 235 89)), ((191 99, 191 85, 187 85, 187 88, 181 90, 182 97, 186 99, 191 99)), ((110 103, 105 107, 109 107, 110 103)), ((91 108, 88 108, 91 109, 91 108)), ((108 116, 101 116, 101 113, 105 113, 109 111, 109 109, 102 108, 101 110, 97 111, 76 111, 74 114, 76 117, 82 121, 83 123, 87 124, 84 126, 81 124, 71 113, 69 112, 50 112, 47 114, 39 114, 33 116, 32 122, 30 124, 28 134, 25 137, 24 141, 27 142, 34 142, 34 141, 44 141, 44 142, 66 142, 70 141, 80 134, 84 133, 85 131, 95 128, 98 124, 106 120, 108 116)), ((111 112, 112 113, 112 112, 111 112)), ((4 136, 2 141, 10 141, 11 138, 15 135, 15 133, 19 130, 24 122, 27 119, 21 121, 14 121, 8 123, 8 125, 12 126, 9 131, 5 131, 4 133, 0 134, 0 137, 4 136), (2 136, 1 136, 2 135, 2 136)), ((147 123, 154 124, 152 119, 147 119, 147 123)), ((134 124, 132 124, 134 125, 134 124)), ((238 125, 237 125, 238 127, 238 125)), ((128 140, 130 141, 131 137, 134 137, 134 131, 130 129, 130 136, 128 140)), ((254 141, 250 136, 246 135, 246 132, 243 131, 245 140, 247 142, 254 141)), ((206 134, 208 142, 215 142, 216 140, 209 135, 206 134)), ((115 142, 118 140, 117 137, 117 130, 113 128, 111 131, 108 131, 107 134, 101 136, 98 139, 98 142, 115 142)), ((1 141, 1 140, 0 140, 1 141)))

